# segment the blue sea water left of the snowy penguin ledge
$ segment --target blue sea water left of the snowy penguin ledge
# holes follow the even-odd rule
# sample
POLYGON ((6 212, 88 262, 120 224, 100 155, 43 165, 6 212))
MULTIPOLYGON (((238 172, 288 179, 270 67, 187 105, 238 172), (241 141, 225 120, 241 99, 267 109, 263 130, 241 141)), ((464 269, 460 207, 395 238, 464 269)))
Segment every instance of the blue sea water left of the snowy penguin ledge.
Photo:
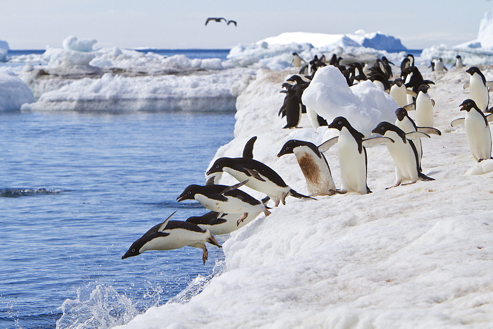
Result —
POLYGON ((176 197, 205 182, 234 122, 234 108, 0 113, 0 328, 123 324, 220 272, 224 254, 213 245, 205 265, 192 247, 121 256, 175 210, 176 220, 207 212, 176 197))

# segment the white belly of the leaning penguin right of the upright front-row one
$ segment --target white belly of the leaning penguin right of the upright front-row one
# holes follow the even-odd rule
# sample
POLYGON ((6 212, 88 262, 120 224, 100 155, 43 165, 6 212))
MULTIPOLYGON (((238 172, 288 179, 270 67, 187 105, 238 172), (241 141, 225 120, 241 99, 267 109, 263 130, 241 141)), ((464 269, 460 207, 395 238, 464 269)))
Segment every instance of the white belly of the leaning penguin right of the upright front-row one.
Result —
MULTIPOLYGON (((386 137, 390 137, 387 136, 386 137)), ((409 142, 403 143, 402 139, 397 134, 392 138, 395 142, 388 143, 388 153, 392 157, 395 165, 395 179, 397 182, 412 181, 417 182, 419 179, 418 168, 416 165, 416 156, 409 142), (394 139, 395 138, 395 139, 394 139)))

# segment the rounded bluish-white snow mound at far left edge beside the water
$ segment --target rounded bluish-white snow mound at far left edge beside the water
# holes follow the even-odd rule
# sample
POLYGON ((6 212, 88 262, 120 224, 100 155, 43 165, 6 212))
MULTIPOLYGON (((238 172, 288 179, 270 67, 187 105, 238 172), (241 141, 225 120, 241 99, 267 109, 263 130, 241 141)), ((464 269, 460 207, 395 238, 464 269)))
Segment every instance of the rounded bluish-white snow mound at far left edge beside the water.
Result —
POLYGON ((35 101, 33 92, 16 76, 0 72, 0 112, 15 111, 35 101))

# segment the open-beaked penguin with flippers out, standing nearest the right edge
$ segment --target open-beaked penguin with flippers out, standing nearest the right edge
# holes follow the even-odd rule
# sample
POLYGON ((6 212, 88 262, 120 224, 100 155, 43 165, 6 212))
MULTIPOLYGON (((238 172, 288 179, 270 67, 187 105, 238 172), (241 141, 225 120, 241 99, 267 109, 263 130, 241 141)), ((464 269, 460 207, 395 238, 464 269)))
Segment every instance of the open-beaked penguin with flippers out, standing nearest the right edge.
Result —
POLYGON ((491 121, 489 117, 492 115, 488 115, 487 118, 472 99, 464 100, 460 106, 461 111, 466 111, 465 118, 452 121, 451 126, 457 127, 458 124, 464 124, 469 151, 474 160, 481 162, 491 159, 492 137, 488 121, 491 121))

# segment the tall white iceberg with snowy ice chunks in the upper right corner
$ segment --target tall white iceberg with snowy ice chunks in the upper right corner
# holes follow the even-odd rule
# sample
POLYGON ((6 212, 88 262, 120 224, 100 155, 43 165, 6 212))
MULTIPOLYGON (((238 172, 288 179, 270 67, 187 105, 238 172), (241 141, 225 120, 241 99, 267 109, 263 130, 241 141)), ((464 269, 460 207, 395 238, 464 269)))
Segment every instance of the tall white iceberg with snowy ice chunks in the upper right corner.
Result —
POLYGON ((493 64, 493 12, 485 13, 479 24, 478 36, 475 40, 450 47, 436 45, 423 49, 421 57, 426 62, 434 58, 443 58, 447 64, 455 63, 460 55, 465 65, 493 64))

